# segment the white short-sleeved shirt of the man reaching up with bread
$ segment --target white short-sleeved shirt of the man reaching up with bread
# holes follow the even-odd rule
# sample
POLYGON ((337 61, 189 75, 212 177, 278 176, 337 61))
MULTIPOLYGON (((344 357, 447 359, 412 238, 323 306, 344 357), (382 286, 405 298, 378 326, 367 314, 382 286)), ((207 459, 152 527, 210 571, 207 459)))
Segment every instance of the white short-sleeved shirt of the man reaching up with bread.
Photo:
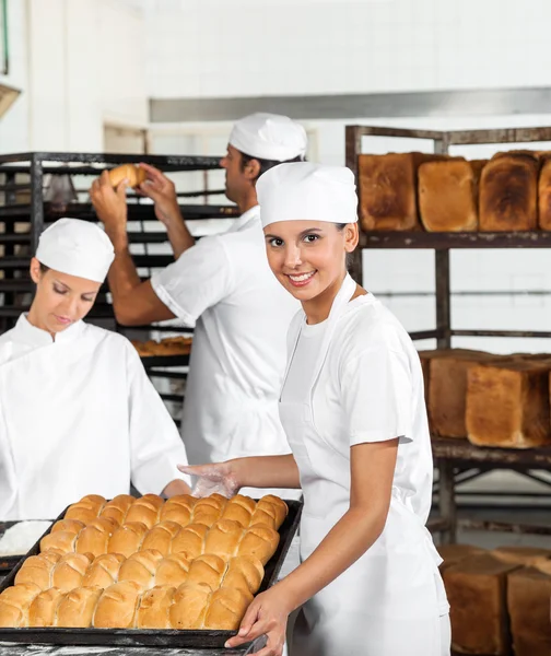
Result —
POLYGON ((151 283, 177 317, 196 325, 181 423, 190 462, 290 453, 278 399, 300 304, 268 266, 258 206, 151 283))

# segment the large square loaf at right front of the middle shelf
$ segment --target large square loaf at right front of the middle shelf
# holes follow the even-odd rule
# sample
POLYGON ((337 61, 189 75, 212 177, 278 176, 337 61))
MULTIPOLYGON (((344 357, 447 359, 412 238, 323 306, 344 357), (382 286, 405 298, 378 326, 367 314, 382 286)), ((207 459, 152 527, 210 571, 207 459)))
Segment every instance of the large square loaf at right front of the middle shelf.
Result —
POLYGON ((478 364, 468 372, 467 435, 478 446, 530 448, 551 444, 546 360, 478 364))

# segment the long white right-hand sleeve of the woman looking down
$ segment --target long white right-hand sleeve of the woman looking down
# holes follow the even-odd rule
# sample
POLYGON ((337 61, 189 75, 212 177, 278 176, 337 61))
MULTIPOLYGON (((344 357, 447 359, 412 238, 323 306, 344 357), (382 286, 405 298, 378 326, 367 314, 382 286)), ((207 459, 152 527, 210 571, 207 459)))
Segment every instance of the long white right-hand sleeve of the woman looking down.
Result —
POLYGON ((189 484, 176 468, 188 464, 178 429, 130 343, 127 351, 132 483, 142 494, 160 494, 175 479, 189 484))

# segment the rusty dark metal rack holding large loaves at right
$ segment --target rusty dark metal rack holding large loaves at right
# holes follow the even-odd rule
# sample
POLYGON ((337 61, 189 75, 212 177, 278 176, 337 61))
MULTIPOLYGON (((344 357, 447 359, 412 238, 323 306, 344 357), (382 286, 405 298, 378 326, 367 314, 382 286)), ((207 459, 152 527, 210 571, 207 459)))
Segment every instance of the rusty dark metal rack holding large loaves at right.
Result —
MULTIPOLYGON (((452 145, 529 143, 551 141, 551 127, 499 130, 433 131, 399 128, 347 126, 345 163, 357 180, 357 156, 362 154, 363 137, 423 139, 433 142, 434 152, 448 153, 452 145)), ((435 257, 436 327, 411 332, 413 340, 436 339, 438 349, 452 348, 454 337, 525 337, 551 338, 547 330, 457 330, 452 326, 449 251, 455 248, 551 248, 551 232, 361 232, 360 245, 351 267, 352 277, 363 280, 362 249, 364 248, 426 248, 435 257)), ((433 454, 438 470, 439 517, 430 523, 431 530, 441 531, 443 541, 455 542, 458 524, 465 528, 485 528, 515 532, 551 535, 548 526, 526 526, 509 523, 457 519, 456 485, 492 469, 511 469, 550 485, 535 470, 551 471, 551 447, 514 450, 481 448, 467 440, 433 440, 433 454)), ((435 487, 435 488, 436 488, 435 487)))

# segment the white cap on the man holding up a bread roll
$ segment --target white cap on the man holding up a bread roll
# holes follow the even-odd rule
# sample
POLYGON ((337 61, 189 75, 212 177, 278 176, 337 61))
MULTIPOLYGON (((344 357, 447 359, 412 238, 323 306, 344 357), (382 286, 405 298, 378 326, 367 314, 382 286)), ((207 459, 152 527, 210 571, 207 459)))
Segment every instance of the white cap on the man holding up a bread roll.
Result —
POLYGON ((285 162, 306 154, 306 130, 286 116, 250 114, 238 120, 230 134, 230 145, 260 160, 285 162))

